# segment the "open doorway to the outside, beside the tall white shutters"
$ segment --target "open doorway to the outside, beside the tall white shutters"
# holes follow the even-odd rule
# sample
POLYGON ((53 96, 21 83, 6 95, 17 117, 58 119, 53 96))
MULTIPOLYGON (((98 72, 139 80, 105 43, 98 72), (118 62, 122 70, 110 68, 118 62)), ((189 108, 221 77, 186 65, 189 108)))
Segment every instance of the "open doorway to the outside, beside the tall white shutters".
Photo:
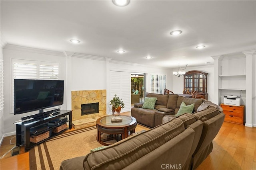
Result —
POLYGON ((131 103, 144 102, 145 97, 145 74, 131 73, 131 103))

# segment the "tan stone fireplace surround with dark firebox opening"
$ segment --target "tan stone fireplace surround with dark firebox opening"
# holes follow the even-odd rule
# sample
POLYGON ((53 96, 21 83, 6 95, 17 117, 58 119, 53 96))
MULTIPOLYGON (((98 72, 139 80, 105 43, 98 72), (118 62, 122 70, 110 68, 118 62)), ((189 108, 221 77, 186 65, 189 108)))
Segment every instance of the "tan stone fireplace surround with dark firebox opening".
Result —
MULTIPOLYGON (((106 115, 106 90, 80 90, 72 91, 72 122, 78 122, 78 120, 86 119, 96 119, 95 117, 100 117, 106 115), (82 115, 82 105, 86 104, 97 104, 98 112, 82 115)), ((93 107, 88 107, 89 110, 94 110, 93 107)), ((85 111, 87 112, 87 111, 85 111)), ((74 125, 73 123, 73 125, 74 125)))

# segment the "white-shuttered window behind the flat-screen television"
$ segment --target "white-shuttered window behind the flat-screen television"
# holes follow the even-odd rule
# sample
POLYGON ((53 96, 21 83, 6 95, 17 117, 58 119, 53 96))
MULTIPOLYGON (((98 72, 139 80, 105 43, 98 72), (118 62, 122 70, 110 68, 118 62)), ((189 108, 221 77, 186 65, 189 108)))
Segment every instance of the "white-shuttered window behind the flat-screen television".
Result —
MULTIPOLYGON (((59 63, 12 60, 12 96, 14 96, 14 79, 54 79, 59 78, 59 63)), ((14 98, 12 98, 12 113, 14 111, 14 98)))

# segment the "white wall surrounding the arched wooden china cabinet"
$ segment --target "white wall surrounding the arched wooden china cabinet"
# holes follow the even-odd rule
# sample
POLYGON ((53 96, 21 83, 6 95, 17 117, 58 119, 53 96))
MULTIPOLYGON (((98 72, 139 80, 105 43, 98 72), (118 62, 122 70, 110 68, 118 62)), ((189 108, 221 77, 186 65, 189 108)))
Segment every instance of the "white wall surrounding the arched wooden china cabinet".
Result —
MULTIPOLYGON (((198 70, 208 73, 207 76, 207 93, 208 93, 208 100, 213 101, 214 99, 214 65, 208 65, 208 66, 195 66, 195 67, 187 67, 186 72, 191 70, 198 70)), ((175 71, 175 69, 174 69, 175 71)), ((173 89, 172 92, 174 93, 182 93, 184 90, 184 76, 174 76, 173 78, 173 89)))

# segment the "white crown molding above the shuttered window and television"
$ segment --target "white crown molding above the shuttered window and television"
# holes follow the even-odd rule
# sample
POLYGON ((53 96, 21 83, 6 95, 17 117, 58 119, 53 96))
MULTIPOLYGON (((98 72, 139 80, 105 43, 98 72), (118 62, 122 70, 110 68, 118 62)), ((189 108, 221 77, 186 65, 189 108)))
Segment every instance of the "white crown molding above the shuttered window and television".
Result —
POLYGON ((45 49, 36 49, 36 48, 31 48, 31 47, 23 47, 19 45, 12 45, 12 44, 7 44, 4 49, 8 50, 15 50, 15 51, 25 51, 29 53, 38 53, 38 54, 45 54, 45 55, 55 55, 55 56, 61 56, 61 57, 66 57, 63 52, 60 51, 50 51, 50 50, 45 50, 45 49))

